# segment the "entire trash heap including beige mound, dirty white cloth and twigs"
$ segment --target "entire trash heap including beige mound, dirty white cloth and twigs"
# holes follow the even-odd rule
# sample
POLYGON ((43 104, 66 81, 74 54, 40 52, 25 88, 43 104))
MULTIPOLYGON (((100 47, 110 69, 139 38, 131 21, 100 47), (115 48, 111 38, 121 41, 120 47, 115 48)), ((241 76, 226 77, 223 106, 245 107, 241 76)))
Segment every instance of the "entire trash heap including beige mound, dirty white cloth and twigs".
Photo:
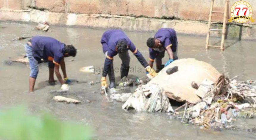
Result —
POLYGON ((140 85, 122 108, 167 111, 182 123, 232 128, 234 118, 256 115, 256 81, 231 80, 206 62, 179 59, 164 67, 149 83, 140 85), (168 73, 172 69, 175 71, 168 73), (169 99, 184 104, 173 110, 169 99))

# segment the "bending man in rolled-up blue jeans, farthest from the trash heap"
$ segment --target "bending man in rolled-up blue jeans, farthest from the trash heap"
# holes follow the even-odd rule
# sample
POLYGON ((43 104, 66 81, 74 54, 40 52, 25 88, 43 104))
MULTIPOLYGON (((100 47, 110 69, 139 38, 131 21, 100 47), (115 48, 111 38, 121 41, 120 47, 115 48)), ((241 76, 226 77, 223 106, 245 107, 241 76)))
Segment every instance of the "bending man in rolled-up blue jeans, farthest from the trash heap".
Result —
POLYGON ((75 57, 77 49, 73 45, 65 45, 60 41, 46 36, 35 36, 30 39, 26 45, 26 56, 29 59, 30 77, 29 91, 34 91, 35 80, 38 75, 38 63, 41 59, 48 60, 49 67, 49 83, 54 83, 54 72, 61 83, 62 89, 67 89, 67 84, 70 80, 67 77, 64 57, 75 57), (62 79, 59 69, 63 72, 64 80, 62 79))

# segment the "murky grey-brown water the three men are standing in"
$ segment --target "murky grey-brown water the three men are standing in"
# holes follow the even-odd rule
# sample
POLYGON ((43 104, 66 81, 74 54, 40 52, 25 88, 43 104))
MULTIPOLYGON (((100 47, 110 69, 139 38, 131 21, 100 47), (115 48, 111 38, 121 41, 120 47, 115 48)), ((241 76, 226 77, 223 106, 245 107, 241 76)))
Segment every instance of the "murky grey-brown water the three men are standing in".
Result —
MULTIPOLYGON (((74 120, 89 124, 95 131, 95 139, 255 139, 255 132, 246 130, 202 131, 197 126, 182 125, 171 119, 166 113, 125 112, 121 103, 107 102, 99 94, 100 84, 90 86, 90 81, 99 81, 101 75, 79 72, 79 68, 95 65, 102 67, 104 55, 100 38, 104 30, 88 28, 52 27, 50 32, 34 30, 34 24, 4 23, 0 25, 0 107, 7 108, 17 104, 28 106, 35 114, 47 111, 62 120, 74 120), (47 64, 40 64, 36 81, 36 91, 28 93, 29 68, 22 64, 6 65, 5 60, 14 59, 25 54, 23 41, 11 41, 19 36, 44 35, 57 38, 65 44, 73 44, 78 49, 77 57, 65 58, 68 77, 73 81, 67 93, 56 93, 60 88, 49 86, 47 64), (74 61, 70 61, 74 59, 74 61), (51 101, 54 95, 64 95, 81 100, 79 105, 63 104, 51 101), (89 103, 87 100, 90 100, 89 103)), ((154 33, 126 32, 137 48, 148 59, 146 39, 154 33)), ((212 42, 218 42, 215 38, 212 42)), ((193 57, 212 64, 216 69, 230 78, 240 75, 241 79, 256 79, 255 41, 227 40, 229 46, 224 52, 219 49, 205 50, 205 37, 178 34, 179 58, 193 57)), ((131 67, 143 69, 136 58, 131 55, 131 67)), ((167 57, 164 58, 167 60, 167 57)), ((114 67, 119 68, 121 61, 114 59, 114 67)), ((144 71, 144 70, 143 70, 144 71)), ((115 73, 120 76, 119 72, 115 73)), ((145 73, 131 73, 144 76, 145 73)), ((57 78, 55 77, 55 80, 57 78)), ((242 120, 241 126, 252 128, 256 120, 242 120)))

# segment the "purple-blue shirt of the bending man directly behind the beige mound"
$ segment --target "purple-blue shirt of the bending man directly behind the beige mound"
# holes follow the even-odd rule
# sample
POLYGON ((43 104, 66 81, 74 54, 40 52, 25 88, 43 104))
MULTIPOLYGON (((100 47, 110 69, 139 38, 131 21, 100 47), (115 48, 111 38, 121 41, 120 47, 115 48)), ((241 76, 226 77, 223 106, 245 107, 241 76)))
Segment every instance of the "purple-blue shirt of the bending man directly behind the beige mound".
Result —
MULTIPOLYGON (((163 48, 160 48, 160 50, 166 50, 168 46, 171 47, 171 50, 173 53, 176 52, 177 49, 177 36, 176 32, 172 28, 161 28, 157 31, 154 38, 158 39, 163 48)), ((149 58, 154 60, 156 56, 159 54, 160 51, 154 50, 152 48, 149 48, 149 58)))

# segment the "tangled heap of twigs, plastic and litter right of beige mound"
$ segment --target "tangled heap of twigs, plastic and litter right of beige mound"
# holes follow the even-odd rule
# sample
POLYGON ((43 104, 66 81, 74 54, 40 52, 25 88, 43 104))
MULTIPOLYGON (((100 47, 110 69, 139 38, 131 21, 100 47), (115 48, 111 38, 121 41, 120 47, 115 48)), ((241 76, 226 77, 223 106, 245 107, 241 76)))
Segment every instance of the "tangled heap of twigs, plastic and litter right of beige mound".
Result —
POLYGON ((185 103, 174 110, 173 116, 182 123, 204 128, 232 128, 234 118, 256 115, 256 81, 230 80, 222 74, 198 104, 185 103), (210 98, 210 102, 209 102, 210 98))

